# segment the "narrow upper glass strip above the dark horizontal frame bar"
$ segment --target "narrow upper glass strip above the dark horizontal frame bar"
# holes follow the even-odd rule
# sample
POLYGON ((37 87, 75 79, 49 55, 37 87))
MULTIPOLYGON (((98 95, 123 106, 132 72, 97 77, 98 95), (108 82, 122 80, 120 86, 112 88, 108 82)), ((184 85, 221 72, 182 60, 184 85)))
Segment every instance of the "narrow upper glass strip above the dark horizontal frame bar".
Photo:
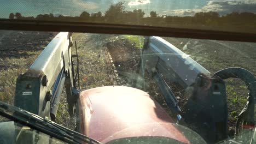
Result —
POLYGON ((256 1, 2 1, 1 19, 112 23, 256 33, 256 1))

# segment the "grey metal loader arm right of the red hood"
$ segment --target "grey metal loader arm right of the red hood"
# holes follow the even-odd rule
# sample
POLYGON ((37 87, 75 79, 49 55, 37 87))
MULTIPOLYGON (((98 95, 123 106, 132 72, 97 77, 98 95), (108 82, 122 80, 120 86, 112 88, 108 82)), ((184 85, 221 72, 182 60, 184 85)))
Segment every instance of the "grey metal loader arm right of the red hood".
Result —
POLYGON ((145 37, 138 67, 143 81, 136 85, 143 88, 146 86, 144 78, 147 75, 153 78, 172 114, 177 116, 177 122, 195 125, 207 142, 226 139, 228 107, 222 79, 160 37, 145 37), (168 86, 170 83, 184 91, 193 89, 183 110, 173 89, 168 86))

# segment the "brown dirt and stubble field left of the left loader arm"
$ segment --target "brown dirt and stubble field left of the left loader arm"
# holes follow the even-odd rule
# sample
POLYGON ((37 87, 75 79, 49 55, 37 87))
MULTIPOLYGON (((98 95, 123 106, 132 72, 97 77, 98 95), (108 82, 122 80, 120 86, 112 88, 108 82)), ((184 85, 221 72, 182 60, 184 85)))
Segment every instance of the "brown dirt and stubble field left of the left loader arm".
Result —
POLYGON ((0 31, 0 100, 13 104, 18 75, 30 68, 55 34, 0 31))

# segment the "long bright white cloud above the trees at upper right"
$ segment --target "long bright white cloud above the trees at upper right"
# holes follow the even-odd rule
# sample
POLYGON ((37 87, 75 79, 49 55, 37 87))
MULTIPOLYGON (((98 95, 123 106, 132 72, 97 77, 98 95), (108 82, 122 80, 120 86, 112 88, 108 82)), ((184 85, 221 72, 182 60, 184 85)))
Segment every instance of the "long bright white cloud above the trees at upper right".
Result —
POLYGON ((164 15, 193 16, 195 13, 215 11, 220 15, 232 13, 249 12, 256 13, 256 0, 223 0, 209 1, 200 9, 175 9, 163 11, 164 15))

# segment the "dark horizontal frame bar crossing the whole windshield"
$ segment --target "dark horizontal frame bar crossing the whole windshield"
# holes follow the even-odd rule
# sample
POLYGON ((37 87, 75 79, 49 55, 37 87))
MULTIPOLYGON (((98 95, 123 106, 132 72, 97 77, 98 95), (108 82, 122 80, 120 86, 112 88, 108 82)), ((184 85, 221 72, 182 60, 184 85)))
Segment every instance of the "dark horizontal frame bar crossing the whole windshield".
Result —
POLYGON ((58 22, 38 20, 0 19, 1 29, 20 31, 59 31, 103 34, 155 35, 161 37, 195 38, 256 42, 256 34, 212 31, 191 28, 116 25, 90 22, 58 22))

